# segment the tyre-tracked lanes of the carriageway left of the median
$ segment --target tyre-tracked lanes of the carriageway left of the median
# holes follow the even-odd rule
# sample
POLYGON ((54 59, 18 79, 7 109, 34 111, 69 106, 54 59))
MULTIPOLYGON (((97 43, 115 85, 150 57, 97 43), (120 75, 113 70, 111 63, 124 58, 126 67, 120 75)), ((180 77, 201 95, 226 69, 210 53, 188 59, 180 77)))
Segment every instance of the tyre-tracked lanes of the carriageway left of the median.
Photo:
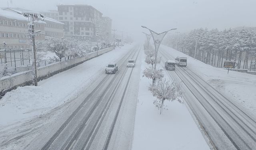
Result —
MULTIPOLYGON (((118 61, 116 74, 102 75, 96 88, 84 98, 78 108, 43 145, 42 150, 106 150, 114 146, 112 142, 114 141, 112 135, 116 134, 113 133, 114 127, 117 120, 120 120, 118 115, 122 103, 127 100, 126 91, 132 88, 128 85, 132 84, 130 78, 133 68, 127 68, 126 63, 128 59, 136 60, 140 49, 140 47, 132 48, 118 61)), ((78 99, 83 98, 84 95, 81 96, 78 99)), ((134 102, 135 105, 136 100, 134 102)), ((30 148, 38 148, 38 143, 30 144, 28 149, 30 148)))

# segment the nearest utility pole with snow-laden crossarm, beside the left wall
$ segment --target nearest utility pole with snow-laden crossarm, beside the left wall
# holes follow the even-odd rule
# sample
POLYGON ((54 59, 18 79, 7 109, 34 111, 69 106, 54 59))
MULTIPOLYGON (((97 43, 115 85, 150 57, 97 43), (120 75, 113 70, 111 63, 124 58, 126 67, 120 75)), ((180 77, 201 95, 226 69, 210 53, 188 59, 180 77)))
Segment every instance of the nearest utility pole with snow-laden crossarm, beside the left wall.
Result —
MULTIPOLYGON (((34 31, 34 21, 39 21, 44 18, 44 16, 38 12, 22 12, 23 16, 28 17, 28 25, 29 25, 29 32, 32 40, 32 46, 33 46, 33 82, 34 86, 38 86, 37 82, 37 67, 36 67, 36 46, 35 46, 35 31, 34 31)), ((43 21, 43 20, 42 20, 43 21)), ((41 32, 40 30, 36 33, 41 32)))

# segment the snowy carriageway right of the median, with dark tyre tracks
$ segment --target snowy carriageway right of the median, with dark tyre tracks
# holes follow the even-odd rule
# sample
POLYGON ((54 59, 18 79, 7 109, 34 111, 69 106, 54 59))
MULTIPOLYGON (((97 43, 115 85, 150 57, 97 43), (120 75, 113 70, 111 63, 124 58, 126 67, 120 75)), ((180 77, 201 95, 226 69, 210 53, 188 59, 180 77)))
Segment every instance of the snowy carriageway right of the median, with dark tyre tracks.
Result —
MULTIPOLYGON (((162 67, 174 57, 170 51, 160 50, 162 67)), ((176 66, 175 71, 166 71, 170 78, 182 82, 182 90, 188 107, 216 149, 255 150, 256 118, 247 110, 218 92, 200 76, 176 66)))

